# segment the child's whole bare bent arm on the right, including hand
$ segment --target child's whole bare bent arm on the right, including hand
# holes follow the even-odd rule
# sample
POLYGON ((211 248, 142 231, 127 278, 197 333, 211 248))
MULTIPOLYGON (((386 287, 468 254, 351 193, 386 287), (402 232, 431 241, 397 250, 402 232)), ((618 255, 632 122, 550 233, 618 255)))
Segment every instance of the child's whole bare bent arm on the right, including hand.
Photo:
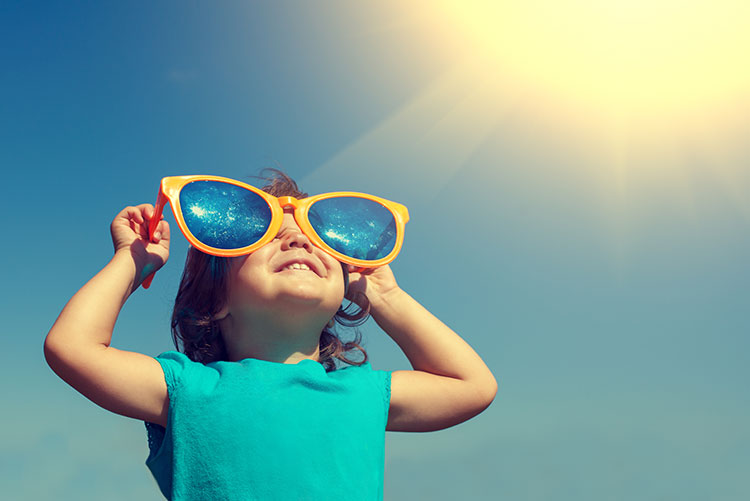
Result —
MULTIPOLYGON (((370 313, 403 350, 414 370, 391 375, 389 431, 449 428, 485 410, 497 381, 466 341, 396 285, 383 266, 357 283, 370 300, 370 313)), ((352 294, 352 297, 354 295, 352 294)))

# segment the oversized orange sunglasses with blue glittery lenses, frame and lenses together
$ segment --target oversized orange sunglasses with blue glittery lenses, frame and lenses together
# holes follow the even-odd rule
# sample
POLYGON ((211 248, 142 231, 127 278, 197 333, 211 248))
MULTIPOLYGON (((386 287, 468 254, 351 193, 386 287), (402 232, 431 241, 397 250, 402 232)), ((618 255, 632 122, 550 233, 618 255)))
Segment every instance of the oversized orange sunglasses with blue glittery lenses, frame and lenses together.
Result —
MULTIPOLYGON (((359 271, 393 261, 409 221, 404 205, 366 193, 336 191, 299 200, 225 177, 170 176, 161 180, 149 239, 167 202, 193 247, 224 257, 249 254, 272 241, 284 208, 293 207, 297 226, 313 245, 359 271)), ((152 279, 153 274, 143 287, 152 279)))

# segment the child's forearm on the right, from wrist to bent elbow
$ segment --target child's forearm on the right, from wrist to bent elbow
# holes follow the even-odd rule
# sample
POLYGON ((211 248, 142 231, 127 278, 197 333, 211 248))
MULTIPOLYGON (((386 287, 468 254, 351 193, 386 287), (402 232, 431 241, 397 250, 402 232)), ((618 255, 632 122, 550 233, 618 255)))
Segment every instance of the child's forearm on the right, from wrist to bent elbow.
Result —
POLYGON ((372 302, 371 314, 415 370, 497 385, 471 346, 404 290, 393 289, 372 302))

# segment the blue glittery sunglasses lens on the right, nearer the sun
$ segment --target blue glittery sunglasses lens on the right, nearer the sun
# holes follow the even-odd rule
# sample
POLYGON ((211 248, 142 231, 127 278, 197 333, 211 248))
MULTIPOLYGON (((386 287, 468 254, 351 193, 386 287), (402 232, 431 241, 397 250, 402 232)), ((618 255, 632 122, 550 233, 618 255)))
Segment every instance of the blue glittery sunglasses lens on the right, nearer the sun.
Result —
POLYGON ((345 256, 375 261, 396 245, 396 220, 374 200, 325 198, 310 206, 307 218, 321 240, 345 256))

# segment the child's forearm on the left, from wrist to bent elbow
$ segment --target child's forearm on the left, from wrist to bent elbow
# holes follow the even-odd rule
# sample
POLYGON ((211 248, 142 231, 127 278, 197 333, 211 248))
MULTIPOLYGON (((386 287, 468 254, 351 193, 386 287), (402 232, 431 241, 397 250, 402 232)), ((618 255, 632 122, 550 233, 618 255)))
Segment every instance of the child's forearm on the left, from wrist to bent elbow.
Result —
POLYGON ((117 316, 138 285, 137 276, 140 270, 130 253, 115 253, 65 305, 47 334, 45 349, 109 346, 117 316))

